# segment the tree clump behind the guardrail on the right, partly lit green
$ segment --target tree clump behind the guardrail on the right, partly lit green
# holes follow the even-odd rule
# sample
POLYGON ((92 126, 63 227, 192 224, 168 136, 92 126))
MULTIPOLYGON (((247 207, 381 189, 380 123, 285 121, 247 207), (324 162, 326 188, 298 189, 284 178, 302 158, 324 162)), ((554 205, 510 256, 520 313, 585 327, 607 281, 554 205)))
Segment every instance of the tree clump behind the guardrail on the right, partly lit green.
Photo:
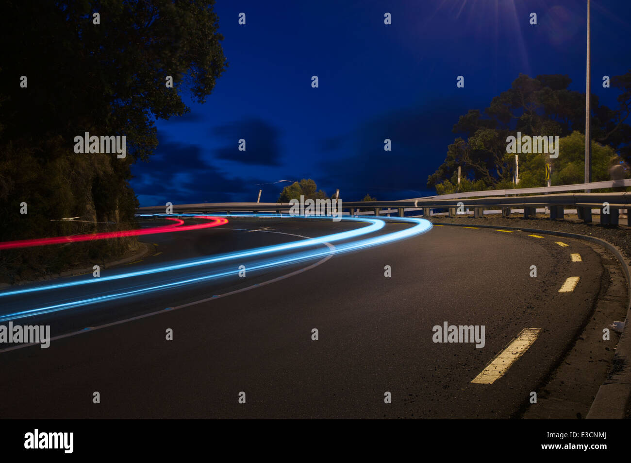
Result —
MULTIPOLYGON (((536 153, 519 155, 520 187, 531 181, 536 183, 531 186, 544 186, 543 177, 539 179, 539 174, 531 174, 530 168, 539 169, 543 176, 545 162, 553 165, 553 184, 565 183, 569 179, 582 183, 584 177, 578 177, 578 172, 583 169, 581 156, 575 151, 578 145, 572 145, 572 160, 565 156, 569 153, 569 143, 575 143, 580 134, 584 138, 585 131, 585 95, 569 90, 570 83, 567 75, 531 78, 521 74, 509 90, 492 99, 487 109, 472 109, 460 116, 452 130, 460 136, 447 148, 445 161, 428 177, 427 186, 436 188, 439 193, 453 189, 457 183, 457 168, 461 167, 460 191, 511 188, 515 160, 514 154, 506 152, 506 139, 518 131, 529 136, 570 137, 565 141, 564 154, 560 153, 558 159, 546 161, 544 155, 536 153)), ((611 85, 622 92, 618 97, 620 107, 610 109, 591 95, 591 137, 596 150, 610 148, 603 152, 604 157, 610 158, 607 162, 628 165, 631 162, 631 126, 625 121, 631 111, 631 71, 613 77, 611 85), (618 161, 613 161, 611 158, 616 156, 618 161)), ((584 148, 582 156, 584 159, 584 148)), ((594 164, 594 181, 600 177, 599 169, 594 164)))

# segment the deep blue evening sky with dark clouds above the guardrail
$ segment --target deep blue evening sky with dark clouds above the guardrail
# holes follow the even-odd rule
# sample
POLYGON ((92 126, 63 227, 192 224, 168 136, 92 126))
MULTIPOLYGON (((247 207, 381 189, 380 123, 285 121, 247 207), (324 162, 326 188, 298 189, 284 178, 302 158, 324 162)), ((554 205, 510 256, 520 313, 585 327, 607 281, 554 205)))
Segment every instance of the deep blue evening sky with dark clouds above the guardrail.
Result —
MULTIPOLYGON (((206 104, 185 98, 189 114, 158 121, 160 145, 134 165, 131 185, 141 206, 256 201, 259 188, 261 201, 276 201, 288 183, 269 183, 303 177, 343 200, 433 194, 427 176, 458 117, 485 109, 519 73, 567 74, 584 92, 586 5, 218 0, 227 71, 206 104)), ((631 69, 631 1, 593 0, 591 20, 592 93, 614 108, 619 91, 601 80, 631 69)))

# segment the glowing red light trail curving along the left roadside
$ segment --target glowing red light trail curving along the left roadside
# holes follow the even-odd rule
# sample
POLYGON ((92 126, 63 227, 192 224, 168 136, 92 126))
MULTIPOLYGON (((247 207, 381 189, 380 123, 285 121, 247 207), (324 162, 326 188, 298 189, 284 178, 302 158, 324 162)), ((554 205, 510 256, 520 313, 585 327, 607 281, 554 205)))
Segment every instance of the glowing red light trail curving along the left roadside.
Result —
POLYGON ((102 232, 92 233, 88 235, 76 235, 76 236, 56 236, 54 238, 36 238, 36 239, 21 239, 19 241, 4 241, 0 243, 0 250, 3 249, 15 249, 15 248, 30 248, 32 246, 47 246, 49 244, 64 244, 64 243, 77 243, 78 241, 93 241, 95 239, 111 239, 111 238, 123 238, 125 236, 139 236, 139 235, 153 235, 156 233, 169 233, 180 231, 199 230, 203 228, 216 227, 218 225, 225 225, 228 223, 228 219, 223 217, 211 217, 209 215, 196 215, 195 219, 208 219, 211 222, 205 224, 185 225, 184 220, 172 219, 166 217, 167 220, 173 220, 176 222, 172 225, 163 225, 162 227, 153 227, 140 230, 128 230, 119 232, 102 232))

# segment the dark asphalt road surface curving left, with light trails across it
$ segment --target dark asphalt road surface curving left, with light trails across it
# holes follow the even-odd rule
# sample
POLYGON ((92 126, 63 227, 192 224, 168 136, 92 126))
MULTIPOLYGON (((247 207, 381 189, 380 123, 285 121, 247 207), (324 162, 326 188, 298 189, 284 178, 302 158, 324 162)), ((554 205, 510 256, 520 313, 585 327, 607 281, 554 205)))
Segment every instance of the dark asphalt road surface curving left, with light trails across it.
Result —
MULTIPOLYGON (((111 272, 158 268, 369 225, 330 219, 229 220, 211 229, 150 236, 155 255, 111 272)), ((354 239, 412 226, 393 220, 354 239)), ((81 332, 54 339, 47 349, 0 352, 6 372, 0 380, 0 415, 509 418, 578 334, 593 310, 603 274, 599 255, 586 244, 563 239, 567 246, 562 246, 559 239, 542 237, 435 226, 392 243, 259 271, 247 269, 269 262, 268 256, 0 298, 3 316, 45 306, 51 297, 56 304, 68 303, 208 275, 211 267, 246 269, 245 277, 174 284, 13 320, 48 324, 54 337, 81 332), (572 262, 577 253, 581 262, 572 262), (532 265, 536 277, 530 276, 532 265), (386 266, 391 277, 384 276, 386 266), (580 277, 575 289, 558 292, 568 277, 580 277), (233 294, 221 296, 228 292, 233 294), (134 317, 141 318, 115 323, 134 317), (483 325, 485 346, 433 342, 433 327, 444 322, 483 325), (115 324, 102 327, 109 323, 115 324), (88 327, 96 329, 83 330, 88 327), (166 339, 169 328, 172 340, 166 339), (541 330, 504 376, 490 384, 471 383, 524 328, 541 330), (94 392, 100 394, 99 404, 93 403, 94 392), (239 403, 240 392, 245 404, 239 403), (384 403, 386 392, 391 404, 384 403)), ((330 248, 318 244, 309 249, 330 248)), ((102 278, 107 275, 103 272, 102 278)))

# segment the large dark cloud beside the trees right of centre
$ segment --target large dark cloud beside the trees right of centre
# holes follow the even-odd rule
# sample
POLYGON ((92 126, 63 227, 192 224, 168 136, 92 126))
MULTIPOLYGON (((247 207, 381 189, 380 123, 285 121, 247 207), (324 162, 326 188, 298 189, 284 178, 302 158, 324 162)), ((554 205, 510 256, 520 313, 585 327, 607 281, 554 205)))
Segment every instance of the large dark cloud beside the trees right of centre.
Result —
POLYGON ((322 186, 340 188, 343 200, 361 200, 366 193, 379 200, 434 194, 428 191, 427 177, 444 161, 444 140, 456 138, 451 128, 459 114, 466 114, 467 105, 462 100, 441 99, 365 121, 344 137, 346 141, 337 142, 344 150, 350 148, 350 157, 342 157, 343 150, 336 148, 339 157, 331 160, 329 155, 322 163, 322 186), (384 151, 386 138, 392 141, 391 151, 384 151))

